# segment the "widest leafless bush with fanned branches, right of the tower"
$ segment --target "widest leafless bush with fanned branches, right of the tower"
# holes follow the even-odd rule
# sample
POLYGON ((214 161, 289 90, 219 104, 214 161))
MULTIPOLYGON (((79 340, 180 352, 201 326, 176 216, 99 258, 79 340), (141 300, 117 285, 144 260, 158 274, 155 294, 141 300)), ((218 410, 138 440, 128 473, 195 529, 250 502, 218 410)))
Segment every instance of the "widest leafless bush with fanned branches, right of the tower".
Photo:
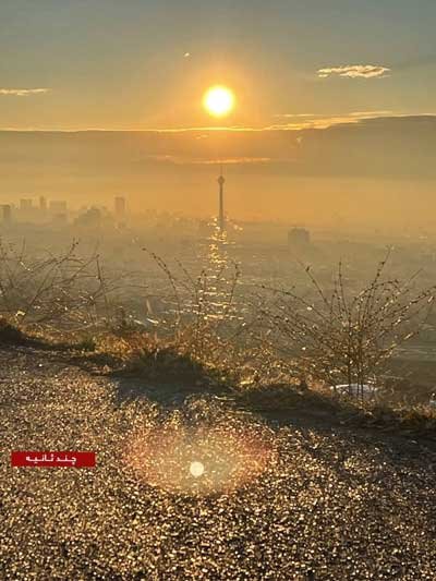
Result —
MULTIPOLYGON (((271 325, 280 356, 329 385, 374 380, 386 361, 420 330, 434 302, 435 288, 415 290, 416 275, 404 282, 385 276, 386 258, 361 291, 346 288, 339 264, 332 290, 324 290, 311 268, 305 269, 311 292, 264 289, 272 294, 265 316, 271 325)), ((351 388, 350 388, 351 389, 351 388)))

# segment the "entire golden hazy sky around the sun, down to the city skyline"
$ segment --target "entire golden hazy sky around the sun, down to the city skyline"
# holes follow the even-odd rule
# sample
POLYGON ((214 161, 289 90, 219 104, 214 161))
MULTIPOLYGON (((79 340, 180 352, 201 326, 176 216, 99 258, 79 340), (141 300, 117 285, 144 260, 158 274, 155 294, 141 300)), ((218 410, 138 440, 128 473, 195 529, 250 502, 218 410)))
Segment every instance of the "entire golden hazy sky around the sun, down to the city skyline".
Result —
POLYGON ((240 217, 436 216, 435 0, 1 0, 0 26, 0 129, 143 130, 0 131, 2 201, 210 215, 223 159, 240 217))

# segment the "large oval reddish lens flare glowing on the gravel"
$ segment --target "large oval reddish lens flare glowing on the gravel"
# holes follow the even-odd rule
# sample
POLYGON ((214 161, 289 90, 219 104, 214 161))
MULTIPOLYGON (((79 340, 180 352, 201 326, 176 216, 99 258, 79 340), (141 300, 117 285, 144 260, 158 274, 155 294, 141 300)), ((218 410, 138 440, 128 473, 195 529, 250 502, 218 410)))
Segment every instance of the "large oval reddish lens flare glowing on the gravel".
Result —
POLYGON ((207 421, 186 419, 175 410, 164 421, 136 428, 124 450, 136 477, 189 495, 240 488, 259 476, 274 456, 272 432, 230 410, 207 421))

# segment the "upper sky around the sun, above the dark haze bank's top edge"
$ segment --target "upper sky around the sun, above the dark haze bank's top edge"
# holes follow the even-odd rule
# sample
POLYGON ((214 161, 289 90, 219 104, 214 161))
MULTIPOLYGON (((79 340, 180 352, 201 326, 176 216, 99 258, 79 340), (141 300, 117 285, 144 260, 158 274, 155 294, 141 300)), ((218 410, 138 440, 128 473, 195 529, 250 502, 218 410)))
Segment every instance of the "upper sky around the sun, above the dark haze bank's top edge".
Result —
POLYGON ((434 0, 2 0, 0 22, 2 128, 210 125, 217 82, 240 126, 436 110, 434 0))

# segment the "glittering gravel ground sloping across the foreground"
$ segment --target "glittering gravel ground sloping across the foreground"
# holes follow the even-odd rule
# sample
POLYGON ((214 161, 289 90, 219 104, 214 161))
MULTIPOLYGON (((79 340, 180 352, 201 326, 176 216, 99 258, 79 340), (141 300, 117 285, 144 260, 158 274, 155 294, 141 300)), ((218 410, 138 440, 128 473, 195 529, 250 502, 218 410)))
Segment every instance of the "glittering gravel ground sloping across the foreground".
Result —
POLYGON ((1 580, 436 579, 423 443, 195 396, 120 404, 117 383, 28 349, 0 351, 0 385, 1 580), (98 465, 13 469, 14 449, 98 465))

